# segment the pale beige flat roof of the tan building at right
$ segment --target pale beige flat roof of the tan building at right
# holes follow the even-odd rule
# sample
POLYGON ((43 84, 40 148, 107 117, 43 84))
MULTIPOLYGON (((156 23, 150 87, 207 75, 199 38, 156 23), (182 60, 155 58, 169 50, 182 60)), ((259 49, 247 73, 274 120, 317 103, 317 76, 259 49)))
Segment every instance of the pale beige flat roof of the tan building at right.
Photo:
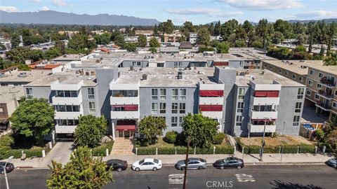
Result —
POLYGON ((302 76, 308 75, 308 66, 322 66, 322 60, 263 60, 267 64, 278 66, 279 68, 298 73, 302 76))

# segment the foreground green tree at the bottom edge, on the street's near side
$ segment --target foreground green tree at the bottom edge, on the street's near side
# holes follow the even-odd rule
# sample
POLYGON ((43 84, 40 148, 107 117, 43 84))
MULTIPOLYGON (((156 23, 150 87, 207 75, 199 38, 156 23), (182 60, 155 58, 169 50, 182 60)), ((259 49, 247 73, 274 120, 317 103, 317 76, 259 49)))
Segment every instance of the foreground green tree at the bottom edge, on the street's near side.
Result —
POLYGON ((52 161, 47 188, 102 188, 112 181, 112 174, 102 157, 91 157, 88 147, 79 147, 70 155, 70 162, 62 166, 52 161))

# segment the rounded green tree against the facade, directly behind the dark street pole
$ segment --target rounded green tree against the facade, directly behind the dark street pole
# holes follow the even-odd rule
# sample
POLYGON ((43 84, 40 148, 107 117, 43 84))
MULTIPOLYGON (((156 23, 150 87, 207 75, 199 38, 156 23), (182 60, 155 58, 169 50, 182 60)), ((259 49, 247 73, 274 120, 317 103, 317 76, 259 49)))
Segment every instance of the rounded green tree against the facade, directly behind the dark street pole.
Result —
POLYGON ((183 135, 190 138, 193 147, 210 148, 218 133, 218 122, 201 113, 188 113, 183 118, 183 135))

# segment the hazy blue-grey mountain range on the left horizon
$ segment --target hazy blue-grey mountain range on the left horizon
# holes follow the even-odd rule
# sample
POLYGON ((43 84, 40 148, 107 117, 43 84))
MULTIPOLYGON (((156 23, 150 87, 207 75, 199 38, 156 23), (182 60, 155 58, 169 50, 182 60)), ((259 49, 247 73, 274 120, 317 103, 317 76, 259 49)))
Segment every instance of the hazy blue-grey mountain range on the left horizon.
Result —
POLYGON ((0 11, 0 23, 13 24, 53 24, 53 25, 119 25, 119 26, 152 26, 159 24, 156 19, 136 18, 125 15, 78 15, 74 13, 62 13, 54 10, 39 12, 15 12, 0 11))

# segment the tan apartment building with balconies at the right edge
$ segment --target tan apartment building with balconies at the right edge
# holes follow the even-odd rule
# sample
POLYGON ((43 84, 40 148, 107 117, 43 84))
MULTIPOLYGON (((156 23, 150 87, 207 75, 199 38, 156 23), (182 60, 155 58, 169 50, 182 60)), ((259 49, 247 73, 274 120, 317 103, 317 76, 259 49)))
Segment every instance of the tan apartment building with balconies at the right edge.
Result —
POLYGON ((326 120, 337 114, 336 67, 323 66, 322 60, 263 60, 263 69, 306 85, 305 106, 326 120))

